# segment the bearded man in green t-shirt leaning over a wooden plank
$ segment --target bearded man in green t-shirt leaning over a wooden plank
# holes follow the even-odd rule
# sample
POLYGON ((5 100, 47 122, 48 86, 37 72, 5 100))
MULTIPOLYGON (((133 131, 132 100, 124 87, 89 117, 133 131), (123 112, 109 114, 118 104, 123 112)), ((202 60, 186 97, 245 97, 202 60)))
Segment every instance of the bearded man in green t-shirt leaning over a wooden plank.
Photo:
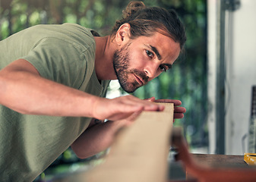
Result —
MULTIPOLYGON (((103 96, 109 80, 128 93, 153 80, 172 67, 184 43, 173 11, 142 2, 128 5, 109 36, 76 24, 38 25, 1 41, 1 181, 33 180, 69 146, 80 158, 94 155, 128 117, 163 111, 154 98, 103 96)), ((184 112, 176 107, 175 118, 184 112)))

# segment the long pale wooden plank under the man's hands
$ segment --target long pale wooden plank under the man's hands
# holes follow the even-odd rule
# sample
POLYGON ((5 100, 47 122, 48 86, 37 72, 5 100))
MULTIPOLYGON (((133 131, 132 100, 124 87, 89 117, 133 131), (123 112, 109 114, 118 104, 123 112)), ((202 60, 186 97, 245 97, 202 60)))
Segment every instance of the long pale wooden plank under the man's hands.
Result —
POLYGON ((106 161, 84 175, 86 181, 166 181, 174 106, 164 105, 164 111, 142 112, 134 124, 122 130, 106 161))

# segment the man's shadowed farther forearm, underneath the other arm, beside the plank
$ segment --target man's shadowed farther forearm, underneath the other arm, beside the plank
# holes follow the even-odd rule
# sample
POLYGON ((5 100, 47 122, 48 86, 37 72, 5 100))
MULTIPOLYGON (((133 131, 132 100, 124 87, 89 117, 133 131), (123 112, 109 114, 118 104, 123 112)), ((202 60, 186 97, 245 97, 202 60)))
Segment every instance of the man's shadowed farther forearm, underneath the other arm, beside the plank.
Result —
POLYGON ((71 145, 71 148, 79 158, 88 158, 102 152, 111 146, 115 133, 125 126, 123 121, 107 121, 88 128, 71 145))

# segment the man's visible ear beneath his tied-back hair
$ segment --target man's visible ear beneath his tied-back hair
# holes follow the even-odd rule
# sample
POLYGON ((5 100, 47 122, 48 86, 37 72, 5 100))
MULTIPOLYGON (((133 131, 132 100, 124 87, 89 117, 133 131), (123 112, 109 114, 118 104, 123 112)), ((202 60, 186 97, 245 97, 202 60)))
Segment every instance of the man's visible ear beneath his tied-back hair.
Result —
POLYGON ((130 39, 130 24, 122 24, 119 27, 119 30, 117 30, 115 34, 115 42, 117 45, 122 45, 124 43, 127 43, 128 40, 130 39))

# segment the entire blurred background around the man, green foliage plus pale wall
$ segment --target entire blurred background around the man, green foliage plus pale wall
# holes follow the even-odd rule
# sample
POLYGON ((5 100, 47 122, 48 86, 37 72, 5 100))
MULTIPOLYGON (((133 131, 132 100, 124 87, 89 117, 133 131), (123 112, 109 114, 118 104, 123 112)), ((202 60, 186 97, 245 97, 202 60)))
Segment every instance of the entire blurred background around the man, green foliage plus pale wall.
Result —
MULTIPOLYGON (((81 24, 109 34, 128 0, 0 0, 0 40, 36 24, 81 24)), ((179 99, 187 109, 182 126, 191 152, 254 152, 256 115, 256 1, 144 0, 145 5, 175 9, 185 25, 185 52, 171 71, 134 93, 141 99, 179 99), (249 130, 251 129, 251 130, 249 130)), ((112 81, 108 97, 125 95, 112 81)), ((100 162, 102 154, 79 160, 71 149, 45 173, 75 171, 100 162)))

